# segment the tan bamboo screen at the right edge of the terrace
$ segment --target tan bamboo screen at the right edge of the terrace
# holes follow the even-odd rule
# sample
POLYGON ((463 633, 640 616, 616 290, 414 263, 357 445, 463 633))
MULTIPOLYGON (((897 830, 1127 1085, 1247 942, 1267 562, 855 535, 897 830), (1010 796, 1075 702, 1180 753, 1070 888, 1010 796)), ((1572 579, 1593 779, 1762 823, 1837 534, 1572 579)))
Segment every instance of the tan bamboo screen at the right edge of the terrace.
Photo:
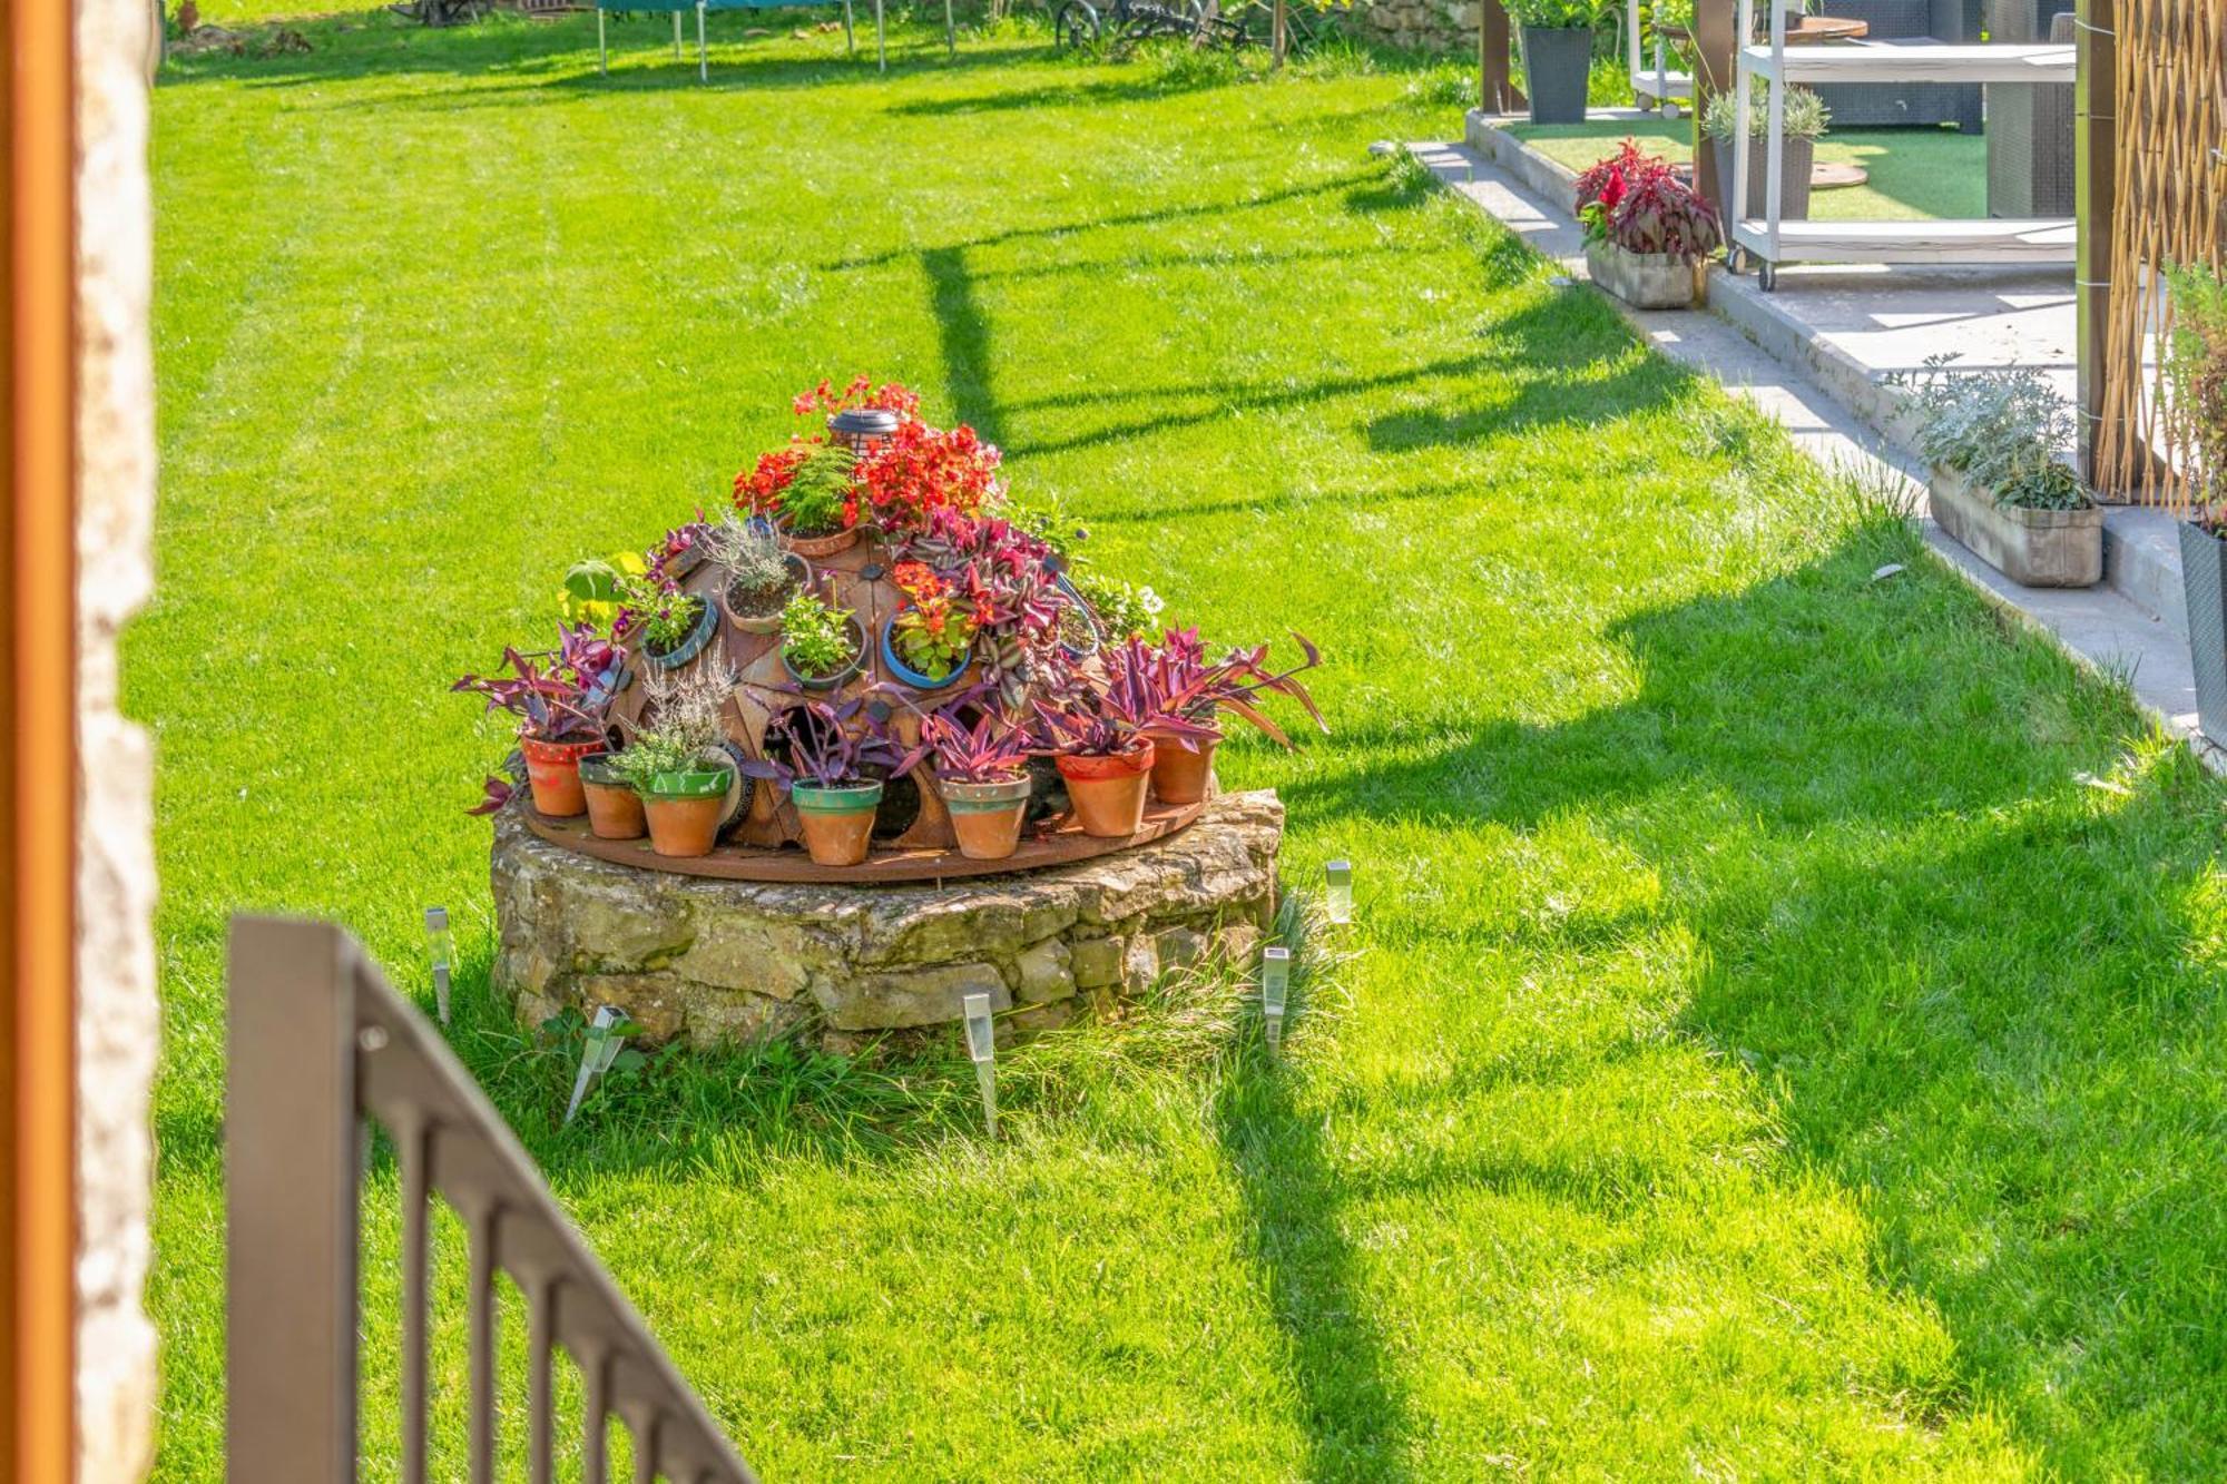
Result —
POLYGON ((2111 294, 2096 486, 2142 504, 2194 497, 2187 428, 2165 385, 2162 270, 2220 261, 2227 207, 2227 0, 2116 0, 2111 294))

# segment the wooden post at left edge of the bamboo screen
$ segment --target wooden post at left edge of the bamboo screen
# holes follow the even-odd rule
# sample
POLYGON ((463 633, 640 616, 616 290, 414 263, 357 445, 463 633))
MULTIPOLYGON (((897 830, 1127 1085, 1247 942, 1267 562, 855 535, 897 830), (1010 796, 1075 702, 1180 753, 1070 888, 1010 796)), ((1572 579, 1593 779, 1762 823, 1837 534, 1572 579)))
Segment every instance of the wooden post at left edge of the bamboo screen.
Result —
MULTIPOLYGON (((2109 365, 2111 354, 2111 236, 2118 212, 2118 16, 2116 0, 2080 0, 2076 11, 2076 36, 2080 74, 2073 94, 2073 212, 2080 218, 2080 247, 2076 254, 2073 285, 2078 294, 2076 334, 2080 357, 2078 406, 2080 406, 2080 479, 2089 488, 2118 481, 2133 470, 2100 468, 2100 452, 2109 441, 2125 448, 2120 437, 2105 439, 2105 419, 2118 417, 2122 406, 2111 394, 2113 381, 2129 368, 2109 365)), ((2140 377, 2142 368, 2131 368, 2140 377)), ((2113 459, 2125 463, 2125 459, 2113 459)), ((2125 492, 2125 490, 2113 490, 2125 492)))

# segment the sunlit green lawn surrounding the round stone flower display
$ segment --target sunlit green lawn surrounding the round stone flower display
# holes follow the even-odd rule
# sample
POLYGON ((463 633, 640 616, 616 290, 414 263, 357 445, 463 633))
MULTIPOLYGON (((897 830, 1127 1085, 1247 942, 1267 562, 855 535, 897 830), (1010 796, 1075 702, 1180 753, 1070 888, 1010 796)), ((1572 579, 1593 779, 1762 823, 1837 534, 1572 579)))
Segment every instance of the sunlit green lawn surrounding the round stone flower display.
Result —
MULTIPOLYGON (((430 1000, 428 902, 461 1054, 768 1477, 2227 1473, 2227 795, 2120 691, 1372 160, 1448 71, 920 27, 884 80, 726 20, 710 87, 659 22, 599 80, 592 18, 372 16, 156 98, 163 1477, 220 1466, 225 916, 430 1000), (1211 635, 1325 642, 1334 735, 1225 769, 1292 882, 1358 869, 1283 1065, 1198 987, 1007 1058, 1000 1145, 953 1054, 555 1127, 443 686, 851 370, 1211 635)), ((457 1477, 454 1330, 439 1384, 457 1477)))

